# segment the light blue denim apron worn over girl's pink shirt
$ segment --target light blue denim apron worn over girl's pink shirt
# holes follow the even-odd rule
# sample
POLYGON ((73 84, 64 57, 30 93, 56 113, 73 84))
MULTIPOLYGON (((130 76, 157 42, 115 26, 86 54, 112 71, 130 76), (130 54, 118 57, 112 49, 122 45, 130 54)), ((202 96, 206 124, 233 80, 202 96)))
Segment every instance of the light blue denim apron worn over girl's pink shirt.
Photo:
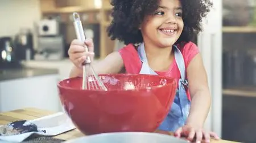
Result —
MULTIPOLYGON (((142 68, 139 73, 148 75, 158 75, 148 66, 146 52, 144 49, 144 43, 139 45, 138 54, 139 58, 142 61, 142 68)), ((191 102, 187 98, 187 94, 185 92, 184 87, 188 86, 188 82, 187 80, 185 80, 185 63, 183 55, 181 54, 180 50, 177 48, 176 45, 174 45, 174 57, 181 75, 179 79, 179 86, 176 90, 175 99, 174 102, 172 103, 170 111, 168 112, 166 118, 158 127, 159 130, 171 132, 175 132, 176 129, 182 127, 185 124, 189 113, 189 107, 191 105, 191 102)))

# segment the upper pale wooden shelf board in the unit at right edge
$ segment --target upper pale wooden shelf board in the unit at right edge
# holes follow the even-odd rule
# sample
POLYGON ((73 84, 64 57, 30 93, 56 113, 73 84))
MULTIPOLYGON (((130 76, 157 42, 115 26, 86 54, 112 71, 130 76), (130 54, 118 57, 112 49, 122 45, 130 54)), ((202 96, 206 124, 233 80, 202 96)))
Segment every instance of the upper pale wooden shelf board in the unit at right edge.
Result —
POLYGON ((256 33, 256 27, 223 27, 222 32, 227 32, 227 33, 256 33))

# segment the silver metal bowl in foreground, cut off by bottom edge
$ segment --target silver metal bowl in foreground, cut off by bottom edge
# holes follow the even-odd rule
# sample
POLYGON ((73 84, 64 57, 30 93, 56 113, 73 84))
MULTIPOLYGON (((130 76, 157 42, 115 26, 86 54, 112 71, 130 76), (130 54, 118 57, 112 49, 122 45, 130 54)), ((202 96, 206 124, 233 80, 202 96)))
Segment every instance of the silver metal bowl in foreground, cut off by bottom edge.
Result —
POLYGON ((187 143, 187 141, 170 135, 147 132, 115 132, 84 136, 65 143, 187 143))

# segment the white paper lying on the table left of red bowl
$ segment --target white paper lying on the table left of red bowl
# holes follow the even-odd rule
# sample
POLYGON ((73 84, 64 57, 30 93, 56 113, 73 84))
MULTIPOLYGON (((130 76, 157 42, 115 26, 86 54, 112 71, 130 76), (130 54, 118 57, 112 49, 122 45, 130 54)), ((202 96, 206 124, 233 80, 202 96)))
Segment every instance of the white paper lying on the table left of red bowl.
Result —
POLYGON ((0 140, 22 142, 26 138, 34 134, 40 136, 56 136, 76 128, 75 125, 72 123, 71 119, 69 119, 69 117, 63 112, 57 112, 56 114, 43 116, 42 118, 38 118, 35 120, 27 120, 27 122, 36 124, 38 126, 38 130, 45 130, 46 133, 28 132, 19 135, 0 136, 0 140))

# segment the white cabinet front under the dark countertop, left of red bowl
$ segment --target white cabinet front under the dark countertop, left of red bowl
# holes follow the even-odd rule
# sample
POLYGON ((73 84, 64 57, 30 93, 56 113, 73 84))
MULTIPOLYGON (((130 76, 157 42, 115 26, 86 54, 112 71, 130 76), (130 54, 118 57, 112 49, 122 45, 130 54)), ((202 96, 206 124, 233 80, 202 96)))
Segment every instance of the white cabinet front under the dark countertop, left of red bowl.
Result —
POLYGON ((36 107, 61 111, 57 74, 0 81, 0 112, 36 107))

